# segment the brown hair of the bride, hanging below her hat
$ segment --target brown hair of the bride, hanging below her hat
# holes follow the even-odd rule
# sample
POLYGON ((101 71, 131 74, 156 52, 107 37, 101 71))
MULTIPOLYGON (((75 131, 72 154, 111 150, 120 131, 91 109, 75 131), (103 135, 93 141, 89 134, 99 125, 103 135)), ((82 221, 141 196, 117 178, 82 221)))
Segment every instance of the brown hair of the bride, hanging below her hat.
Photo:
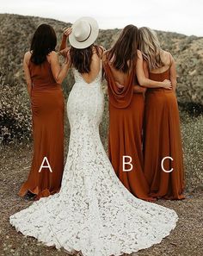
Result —
POLYGON ((93 44, 90 47, 84 49, 77 49, 71 47, 70 55, 72 66, 74 66, 77 69, 77 71, 82 74, 89 73, 93 52, 95 50, 95 53, 98 56, 100 56, 99 48, 100 47, 95 46, 93 44))

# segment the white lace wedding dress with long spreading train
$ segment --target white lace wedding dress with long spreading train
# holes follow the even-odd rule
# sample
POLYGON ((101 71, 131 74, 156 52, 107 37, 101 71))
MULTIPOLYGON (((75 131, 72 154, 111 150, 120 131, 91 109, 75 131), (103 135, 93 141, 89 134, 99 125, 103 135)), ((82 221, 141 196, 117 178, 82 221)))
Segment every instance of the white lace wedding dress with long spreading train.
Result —
POLYGON ((90 84, 73 72, 76 83, 67 103, 71 137, 61 190, 11 215, 9 222, 47 246, 84 256, 151 247, 169 235, 178 217, 172 209, 133 197, 120 183, 99 135, 102 71, 90 84))

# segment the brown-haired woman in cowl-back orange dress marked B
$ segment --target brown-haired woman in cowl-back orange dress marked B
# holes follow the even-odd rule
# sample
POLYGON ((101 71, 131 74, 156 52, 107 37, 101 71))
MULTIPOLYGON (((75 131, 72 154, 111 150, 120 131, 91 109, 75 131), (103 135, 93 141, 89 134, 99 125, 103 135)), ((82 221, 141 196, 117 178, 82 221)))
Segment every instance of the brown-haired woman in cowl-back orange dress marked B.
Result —
MULTIPOLYGON (((126 188, 135 197, 152 200, 148 195, 149 185, 143 172, 142 128, 145 89, 138 85, 135 71, 137 48, 138 28, 128 25, 114 46, 103 54, 109 96, 108 153, 114 171, 126 188), (125 161, 131 163, 123 165, 124 156, 127 156, 125 161)), ((170 86, 169 81, 157 84, 145 78, 144 72, 140 77, 143 84, 170 86)))

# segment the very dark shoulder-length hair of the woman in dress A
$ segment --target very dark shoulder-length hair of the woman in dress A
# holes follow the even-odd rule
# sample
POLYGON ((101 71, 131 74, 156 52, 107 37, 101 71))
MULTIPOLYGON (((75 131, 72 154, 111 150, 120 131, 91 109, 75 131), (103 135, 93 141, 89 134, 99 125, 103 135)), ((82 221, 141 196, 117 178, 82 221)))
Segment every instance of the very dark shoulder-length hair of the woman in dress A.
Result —
POLYGON ((36 65, 40 65, 46 60, 46 55, 48 53, 55 51, 56 45, 57 36, 52 26, 41 24, 34 32, 31 41, 31 61, 36 65))

